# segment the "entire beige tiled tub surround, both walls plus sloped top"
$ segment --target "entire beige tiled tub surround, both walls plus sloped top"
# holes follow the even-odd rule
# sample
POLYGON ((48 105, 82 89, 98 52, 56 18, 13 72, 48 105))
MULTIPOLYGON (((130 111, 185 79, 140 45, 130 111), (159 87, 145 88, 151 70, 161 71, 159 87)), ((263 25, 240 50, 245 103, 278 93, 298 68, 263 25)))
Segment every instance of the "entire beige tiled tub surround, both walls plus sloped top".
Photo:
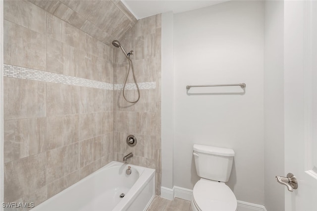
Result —
POLYGON ((159 193, 160 15, 136 22, 117 0, 4 1, 5 202, 38 205, 129 152, 157 170, 159 193), (113 91, 127 70, 114 39, 155 84, 135 105, 113 91))

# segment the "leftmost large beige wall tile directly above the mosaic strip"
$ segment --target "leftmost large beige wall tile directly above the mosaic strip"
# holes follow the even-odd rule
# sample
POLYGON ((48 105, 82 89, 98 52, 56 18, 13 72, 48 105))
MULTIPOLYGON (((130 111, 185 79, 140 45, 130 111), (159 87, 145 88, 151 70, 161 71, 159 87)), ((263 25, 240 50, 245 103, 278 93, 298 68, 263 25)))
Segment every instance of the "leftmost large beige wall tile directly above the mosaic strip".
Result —
POLYGON ((7 20, 3 23, 3 63, 45 70, 45 36, 7 20))

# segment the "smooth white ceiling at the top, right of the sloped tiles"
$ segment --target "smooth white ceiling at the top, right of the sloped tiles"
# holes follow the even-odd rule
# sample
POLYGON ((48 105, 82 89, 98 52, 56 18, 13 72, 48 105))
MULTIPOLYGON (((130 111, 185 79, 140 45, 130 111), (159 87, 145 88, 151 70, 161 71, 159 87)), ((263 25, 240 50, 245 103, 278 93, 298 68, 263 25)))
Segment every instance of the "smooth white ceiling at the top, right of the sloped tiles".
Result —
POLYGON ((137 18, 173 11, 185 12, 222 3, 228 0, 121 0, 122 3, 137 18))

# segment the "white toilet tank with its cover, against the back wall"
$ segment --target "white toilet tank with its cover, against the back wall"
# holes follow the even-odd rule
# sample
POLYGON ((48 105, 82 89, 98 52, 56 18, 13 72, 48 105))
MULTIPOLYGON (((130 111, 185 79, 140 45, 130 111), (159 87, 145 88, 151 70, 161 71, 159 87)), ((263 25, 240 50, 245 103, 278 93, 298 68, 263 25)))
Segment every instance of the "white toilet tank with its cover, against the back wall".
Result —
POLYGON ((232 149, 194 144, 193 154, 198 176, 220 182, 229 180, 234 157, 232 149))

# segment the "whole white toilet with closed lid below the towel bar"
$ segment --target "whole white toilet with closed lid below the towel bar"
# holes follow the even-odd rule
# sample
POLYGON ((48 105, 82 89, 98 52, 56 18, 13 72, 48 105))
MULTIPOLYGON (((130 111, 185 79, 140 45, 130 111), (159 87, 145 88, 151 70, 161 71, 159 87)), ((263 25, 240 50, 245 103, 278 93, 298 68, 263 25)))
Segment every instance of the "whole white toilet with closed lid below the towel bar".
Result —
POLYGON ((193 189, 192 211, 236 211, 237 199, 225 184, 230 177, 234 151, 194 144, 193 154, 201 179, 193 189))

